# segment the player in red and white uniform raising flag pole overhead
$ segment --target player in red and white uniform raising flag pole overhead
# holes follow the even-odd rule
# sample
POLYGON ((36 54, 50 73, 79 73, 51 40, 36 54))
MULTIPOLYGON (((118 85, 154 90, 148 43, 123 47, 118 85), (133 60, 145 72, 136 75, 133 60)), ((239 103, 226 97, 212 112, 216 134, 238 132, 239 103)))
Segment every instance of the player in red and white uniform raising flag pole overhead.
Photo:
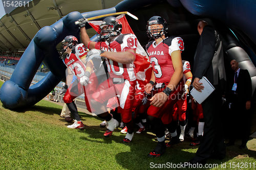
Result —
POLYGON ((109 84, 101 83, 91 100, 94 112, 108 122, 108 130, 104 133, 104 136, 112 135, 112 132, 118 126, 117 120, 112 118, 105 107, 110 98, 118 95, 122 122, 126 124, 128 129, 123 142, 130 142, 134 134, 131 113, 135 94, 136 71, 133 62, 136 58, 138 40, 134 34, 121 34, 121 22, 113 16, 103 19, 97 33, 98 42, 90 40, 84 28, 86 19, 81 18, 78 21, 80 22, 82 42, 90 49, 96 48, 103 51, 100 56, 105 58, 110 74, 109 84), (98 107, 98 103, 103 107, 98 107))

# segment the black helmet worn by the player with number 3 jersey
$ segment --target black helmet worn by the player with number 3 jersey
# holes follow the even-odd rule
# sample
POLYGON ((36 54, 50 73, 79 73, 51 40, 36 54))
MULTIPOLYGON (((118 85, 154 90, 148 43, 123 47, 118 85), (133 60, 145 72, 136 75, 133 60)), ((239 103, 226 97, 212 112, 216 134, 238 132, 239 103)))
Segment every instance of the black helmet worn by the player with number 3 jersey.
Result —
POLYGON ((152 16, 148 21, 147 21, 147 36, 150 38, 159 38, 162 35, 166 34, 168 31, 168 26, 167 22, 165 21, 164 18, 160 16, 152 16), (152 25, 155 24, 160 24, 163 26, 162 29, 151 29, 152 25))

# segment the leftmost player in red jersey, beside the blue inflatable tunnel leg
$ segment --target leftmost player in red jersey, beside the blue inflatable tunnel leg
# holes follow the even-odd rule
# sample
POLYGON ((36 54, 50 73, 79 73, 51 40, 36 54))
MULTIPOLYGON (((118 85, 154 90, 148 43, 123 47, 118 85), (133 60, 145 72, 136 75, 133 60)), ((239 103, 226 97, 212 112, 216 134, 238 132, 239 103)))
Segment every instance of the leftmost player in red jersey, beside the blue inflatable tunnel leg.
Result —
MULTIPOLYGON (((89 51, 89 50, 88 50, 89 51)), ((68 89, 63 96, 63 101, 67 104, 69 110, 74 116, 74 124, 69 125, 71 129, 83 129, 84 125, 81 122, 77 112, 74 99, 84 93, 83 86, 89 83, 89 77, 92 72, 93 63, 89 61, 87 67, 86 63, 87 48, 82 43, 78 44, 76 37, 70 35, 62 40, 61 58, 67 66, 67 85, 68 89), (74 81, 73 78, 76 78, 74 81)))

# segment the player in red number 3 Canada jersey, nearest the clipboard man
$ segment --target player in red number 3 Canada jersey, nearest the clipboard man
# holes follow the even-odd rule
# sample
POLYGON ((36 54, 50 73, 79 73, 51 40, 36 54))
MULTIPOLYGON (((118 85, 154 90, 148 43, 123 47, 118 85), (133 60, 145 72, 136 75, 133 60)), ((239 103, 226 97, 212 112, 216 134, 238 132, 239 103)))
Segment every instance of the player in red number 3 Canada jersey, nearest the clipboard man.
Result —
MULTIPOLYGON (((159 157, 165 152, 165 126, 161 117, 170 114, 169 110, 173 110, 174 104, 183 93, 180 84, 183 40, 180 37, 165 37, 167 30, 167 23, 160 16, 153 16, 147 21, 147 35, 154 38, 154 41, 146 46, 153 67, 151 81, 145 86, 146 92, 151 93, 153 85, 156 84, 147 115, 158 140, 156 148, 148 154, 149 157, 159 157)), ((171 116, 168 117, 167 123, 170 123, 171 116)))

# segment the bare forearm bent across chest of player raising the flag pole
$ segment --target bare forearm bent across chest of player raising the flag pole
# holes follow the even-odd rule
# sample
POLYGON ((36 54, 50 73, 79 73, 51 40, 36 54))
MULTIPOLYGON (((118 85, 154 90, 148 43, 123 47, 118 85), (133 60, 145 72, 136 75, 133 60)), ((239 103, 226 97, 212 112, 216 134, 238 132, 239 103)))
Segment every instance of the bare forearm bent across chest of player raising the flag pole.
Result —
MULTIPOLYGON (((91 46, 91 44, 90 44, 91 46)), ((111 59, 113 61, 122 63, 122 64, 131 64, 134 62, 136 55, 134 49, 126 50, 125 52, 104 52, 100 54, 101 57, 111 59)))

